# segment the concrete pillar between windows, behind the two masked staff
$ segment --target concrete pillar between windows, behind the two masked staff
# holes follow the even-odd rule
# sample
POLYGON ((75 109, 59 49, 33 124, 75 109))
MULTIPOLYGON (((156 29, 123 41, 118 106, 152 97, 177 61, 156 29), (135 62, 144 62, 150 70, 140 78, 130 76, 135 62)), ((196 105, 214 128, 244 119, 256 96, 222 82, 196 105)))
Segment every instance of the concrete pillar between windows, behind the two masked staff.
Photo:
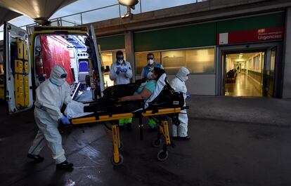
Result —
POLYGON ((134 82, 136 81, 136 62, 134 58, 134 33, 132 31, 124 32, 124 45, 127 61, 130 62, 132 72, 134 74, 131 81, 134 82))

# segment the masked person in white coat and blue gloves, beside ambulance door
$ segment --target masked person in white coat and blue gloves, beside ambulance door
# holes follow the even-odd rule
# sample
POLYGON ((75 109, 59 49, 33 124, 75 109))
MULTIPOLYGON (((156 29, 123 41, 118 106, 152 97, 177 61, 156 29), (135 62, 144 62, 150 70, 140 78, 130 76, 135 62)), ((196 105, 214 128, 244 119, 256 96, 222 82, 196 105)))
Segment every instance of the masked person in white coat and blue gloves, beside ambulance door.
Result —
MULTIPOLYGON (((114 81, 114 85, 129 84, 132 78, 132 69, 129 62, 124 60, 122 51, 117 51, 116 61, 110 67, 110 79, 114 81)), ((119 119, 119 126, 122 129, 124 124, 127 129, 131 130, 132 118, 119 119)))

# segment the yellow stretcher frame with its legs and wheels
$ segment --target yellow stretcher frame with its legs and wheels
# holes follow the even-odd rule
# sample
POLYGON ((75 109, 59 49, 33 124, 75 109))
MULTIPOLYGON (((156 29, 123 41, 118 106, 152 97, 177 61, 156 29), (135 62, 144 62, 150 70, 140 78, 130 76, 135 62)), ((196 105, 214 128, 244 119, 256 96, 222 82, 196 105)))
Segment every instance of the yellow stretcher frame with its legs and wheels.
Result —
POLYGON ((157 138, 153 139, 152 145, 153 147, 160 147, 162 145, 162 138, 164 138, 164 145, 162 150, 157 153, 157 159, 159 161, 164 161, 168 158, 167 146, 174 147, 174 142, 169 135, 169 124, 167 117, 176 117, 178 118, 178 114, 181 112, 181 109, 187 108, 164 108, 164 109, 151 109, 146 110, 144 112, 138 112, 136 114, 133 113, 124 113, 124 114, 105 114, 96 117, 82 117, 77 119, 71 119, 71 124, 91 124, 91 123, 99 123, 110 121, 111 129, 112 129, 112 145, 113 145, 113 155, 111 157, 111 163, 114 166, 119 166, 123 163, 123 156, 120 154, 119 150, 122 148, 122 142, 120 140, 119 126, 118 120, 125 119, 129 117, 135 117, 139 119, 138 128, 140 128, 141 140, 143 140, 143 117, 151 117, 155 119, 157 124, 159 124, 159 130, 157 132, 157 138), (159 119, 157 119, 157 117, 159 119))

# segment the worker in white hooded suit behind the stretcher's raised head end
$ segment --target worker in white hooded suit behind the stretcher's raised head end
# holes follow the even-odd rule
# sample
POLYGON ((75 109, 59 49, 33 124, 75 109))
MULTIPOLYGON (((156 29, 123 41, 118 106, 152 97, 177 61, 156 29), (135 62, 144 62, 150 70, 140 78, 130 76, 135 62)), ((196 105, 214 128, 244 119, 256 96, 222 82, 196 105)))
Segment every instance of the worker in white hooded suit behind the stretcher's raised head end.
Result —
MULTIPOLYGON (((171 86, 175 92, 183 93, 186 106, 186 98, 190 98, 190 94, 187 93, 187 87, 185 81, 188 80, 189 70, 186 67, 180 67, 176 77, 171 81, 171 86)), ((181 110, 179 113, 179 126, 173 124, 173 140, 190 140, 188 135, 188 115, 186 109, 181 110)))

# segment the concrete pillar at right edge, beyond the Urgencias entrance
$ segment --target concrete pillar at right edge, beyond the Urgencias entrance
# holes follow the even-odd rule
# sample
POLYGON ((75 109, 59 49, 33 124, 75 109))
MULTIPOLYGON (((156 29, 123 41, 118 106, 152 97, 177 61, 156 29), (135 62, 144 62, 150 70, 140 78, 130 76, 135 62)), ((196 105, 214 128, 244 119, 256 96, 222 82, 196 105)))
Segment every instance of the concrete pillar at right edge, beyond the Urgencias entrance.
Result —
POLYGON ((283 48, 283 95, 291 98, 291 7, 287 8, 285 19, 285 41, 283 48))

